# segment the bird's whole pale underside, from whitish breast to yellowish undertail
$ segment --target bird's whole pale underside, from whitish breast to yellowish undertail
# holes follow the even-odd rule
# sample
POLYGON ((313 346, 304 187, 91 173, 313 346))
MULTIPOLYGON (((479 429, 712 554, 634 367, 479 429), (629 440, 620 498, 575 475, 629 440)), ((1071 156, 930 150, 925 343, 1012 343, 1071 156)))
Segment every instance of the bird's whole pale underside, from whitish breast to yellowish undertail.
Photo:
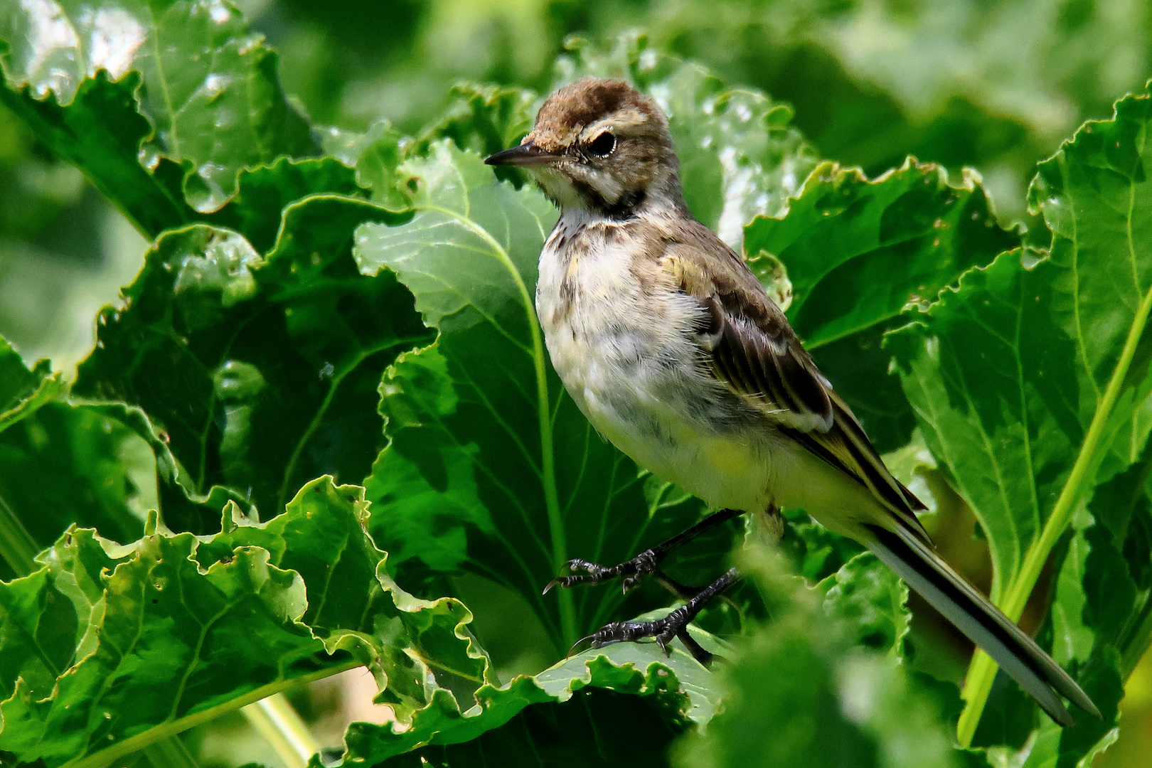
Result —
POLYGON ((537 312, 552 364, 592 426, 639 466, 712 508, 802 508, 834 531, 856 534, 856 520, 872 517, 866 510, 874 497, 708 374, 695 341, 696 301, 642 290, 627 252, 582 258, 592 263, 574 277, 545 249, 537 312))

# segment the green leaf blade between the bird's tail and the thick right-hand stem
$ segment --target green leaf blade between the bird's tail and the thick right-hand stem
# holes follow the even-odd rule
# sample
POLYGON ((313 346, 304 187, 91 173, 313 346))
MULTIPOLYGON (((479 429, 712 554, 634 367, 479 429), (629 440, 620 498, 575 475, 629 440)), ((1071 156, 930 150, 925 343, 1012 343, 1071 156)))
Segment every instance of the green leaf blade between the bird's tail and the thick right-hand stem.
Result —
POLYGON ((1068 409, 1075 350, 1052 324, 1055 273, 1051 261, 1029 271, 1020 251, 1003 253, 886 340, 925 442, 987 537, 995 601, 1020 572, 1082 434, 1068 409))

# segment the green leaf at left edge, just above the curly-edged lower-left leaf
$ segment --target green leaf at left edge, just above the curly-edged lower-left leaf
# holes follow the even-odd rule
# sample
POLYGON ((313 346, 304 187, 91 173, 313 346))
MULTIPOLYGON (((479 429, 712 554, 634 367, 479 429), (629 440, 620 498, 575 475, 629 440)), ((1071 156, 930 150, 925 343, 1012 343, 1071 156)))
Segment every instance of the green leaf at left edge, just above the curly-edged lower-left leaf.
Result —
POLYGON ((3 340, 0 371, 10 402, 20 402, 0 423, 3 578, 35 570, 36 554, 69 525, 131 541, 143 534, 150 509, 162 509, 177 527, 202 530, 227 501, 248 507, 221 487, 189 494, 168 446, 139 409, 68 397, 47 360, 29 371, 3 340))

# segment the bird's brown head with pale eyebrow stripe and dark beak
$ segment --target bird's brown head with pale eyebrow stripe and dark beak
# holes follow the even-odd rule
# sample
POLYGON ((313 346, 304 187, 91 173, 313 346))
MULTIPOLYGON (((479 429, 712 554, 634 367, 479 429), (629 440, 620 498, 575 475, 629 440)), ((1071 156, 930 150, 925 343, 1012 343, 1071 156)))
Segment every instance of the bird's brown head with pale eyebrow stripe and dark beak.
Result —
POLYGON ((668 121, 651 99, 620 79, 585 77, 558 89, 520 146, 493 166, 523 166, 561 210, 619 218, 651 195, 680 199, 679 161, 668 121))

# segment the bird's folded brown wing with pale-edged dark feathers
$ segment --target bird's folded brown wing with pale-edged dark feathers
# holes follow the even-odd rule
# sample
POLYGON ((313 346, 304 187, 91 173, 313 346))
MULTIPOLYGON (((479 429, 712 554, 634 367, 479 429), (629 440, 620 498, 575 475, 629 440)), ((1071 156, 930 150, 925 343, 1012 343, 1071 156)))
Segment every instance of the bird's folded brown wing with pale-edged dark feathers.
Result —
POLYGON ((699 340, 713 375, 778 429, 867 487, 927 542, 915 515, 924 503, 888 472, 756 275, 707 228, 691 234, 668 244, 665 268, 679 274, 681 290, 704 310, 699 340))

